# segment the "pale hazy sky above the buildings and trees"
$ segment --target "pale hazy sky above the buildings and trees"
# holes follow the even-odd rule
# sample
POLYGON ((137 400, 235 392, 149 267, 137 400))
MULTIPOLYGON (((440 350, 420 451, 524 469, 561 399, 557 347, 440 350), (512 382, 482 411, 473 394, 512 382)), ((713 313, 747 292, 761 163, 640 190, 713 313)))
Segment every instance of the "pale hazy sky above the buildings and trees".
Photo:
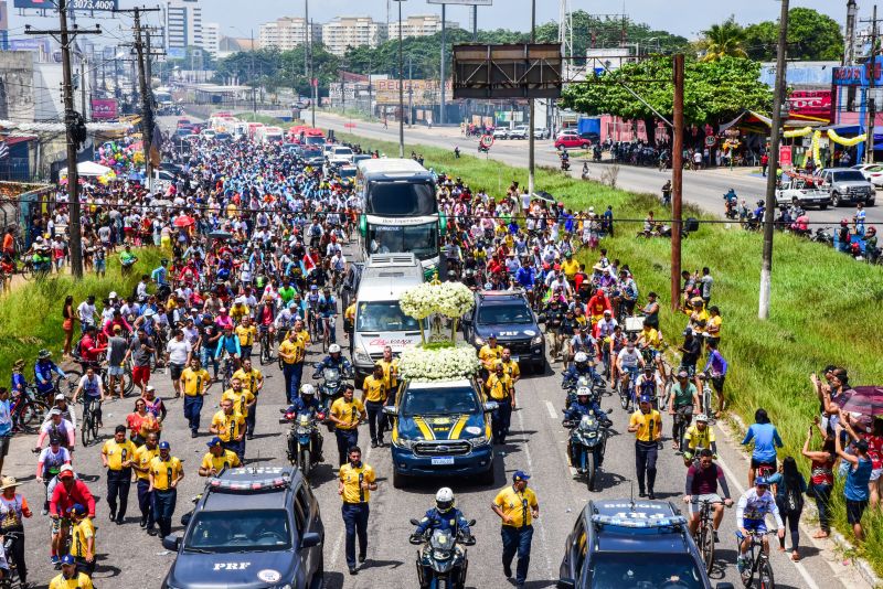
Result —
MULTIPOLYGON (((221 32, 228 36, 248 36, 252 29, 257 36, 260 23, 273 21, 279 17, 299 17, 304 13, 305 0, 200 0, 204 22, 219 22, 221 32)), ((629 18, 637 22, 646 22, 651 28, 670 31, 688 39, 696 39, 699 32, 709 25, 725 20, 734 14, 742 24, 764 20, 776 20, 780 11, 777 0, 570 0, 571 10, 585 10, 591 13, 621 13, 624 8, 629 18)), ((10 4, 10 38, 22 38, 22 26, 30 23, 39 28, 57 25, 57 19, 43 19, 31 15, 22 18, 10 4)), ((120 8, 134 6, 156 6, 157 0, 120 0, 120 8)), ((806 7, 825 12, 838 22, 845 21, 845 0, 791 0, 791 8, 806 7)), ((860 17, 870 17, 872 2, 859 1, 860 17)), ((528 30, 530 28, 531 0, 493 0, 491 7, 479 7, 479 29, 506 28, 528 30)), ((392 20, 397 17, 396 2, 392 2, 392 20)), ((458 22, 466 28, 469 24, 469 11, 462 6, 447 7, 447 20, 458 22)), ((428 4, 426 0, 406 0, 402 6, 402 14, 439 14, 439 4, 428 4)), ((310 18, 317 22, 327 22, 339 15, 370 15, 375 20, 386 20, 386 0, 312 0, 310 18)), ((557 20, 557 0, 536 0, 536 20, 543 23, 557 20)), ((157 15, 150 15, 148 23, 158 24, 157 15)), ((86 24, 88 21, 81 21, 86 24)), ((108 44, 115 44, 115 36, 125 35, 120 25, 130 26, 130 19, 105 19, 103 28, 108 33, 108 44)), ((100 41, 95 40, 98 44, 100 41)))

